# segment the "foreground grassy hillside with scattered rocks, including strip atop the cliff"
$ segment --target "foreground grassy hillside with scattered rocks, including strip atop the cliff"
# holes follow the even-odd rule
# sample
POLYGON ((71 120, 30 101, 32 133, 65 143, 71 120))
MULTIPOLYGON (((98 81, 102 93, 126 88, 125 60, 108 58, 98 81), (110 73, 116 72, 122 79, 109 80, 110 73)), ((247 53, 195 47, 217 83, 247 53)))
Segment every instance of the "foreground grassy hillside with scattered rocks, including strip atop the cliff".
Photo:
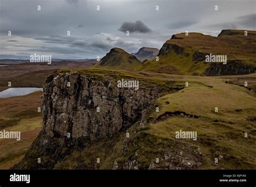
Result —
MULTIPOLYGON (((59 72, 67 71, 70 70, 59 72)), ((113 139, 74 149, 55 169, 256 168, 256 98, 251 92, 256 74, 197 77, 102 69, 78 71, 90 76, 135 77, 158 84, 171 81, 184 85, 184 89, 158 98, 145 119, 126 131, 130 133, 129 138, 126 132, 121 132, 113 139), (247 88, 242 86, 243 81, 248 81, 247 88), (176 139, 175 133, 180 130, 196 131, 197 141, 176 139), (247 138, 245 133, 248 133, 247 138), (97 157, 100 163, 96 163, 97 157), (159 163, 155 162, 156 158, 159 163), (215 158, 218 163, 214 162, 215 158)))

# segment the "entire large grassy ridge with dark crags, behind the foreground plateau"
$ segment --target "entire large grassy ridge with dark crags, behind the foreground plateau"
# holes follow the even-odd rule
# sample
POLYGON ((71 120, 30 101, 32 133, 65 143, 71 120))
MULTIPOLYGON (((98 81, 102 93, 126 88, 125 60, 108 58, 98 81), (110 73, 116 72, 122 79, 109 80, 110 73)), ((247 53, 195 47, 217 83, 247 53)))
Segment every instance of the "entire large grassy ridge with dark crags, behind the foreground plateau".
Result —
POLYGON ((159 51, 159 61, 139 70, 185 75, 240 75, 256 70, 256 31, 223 30, 218 37, 201 33, 174 34, 159 51), (226 55, 227 63, 206 62, 206 55, 226 55), (167 69, 167 70, 166 70, 167 69), (169 70, 170 69, 170 70, 169 70))

